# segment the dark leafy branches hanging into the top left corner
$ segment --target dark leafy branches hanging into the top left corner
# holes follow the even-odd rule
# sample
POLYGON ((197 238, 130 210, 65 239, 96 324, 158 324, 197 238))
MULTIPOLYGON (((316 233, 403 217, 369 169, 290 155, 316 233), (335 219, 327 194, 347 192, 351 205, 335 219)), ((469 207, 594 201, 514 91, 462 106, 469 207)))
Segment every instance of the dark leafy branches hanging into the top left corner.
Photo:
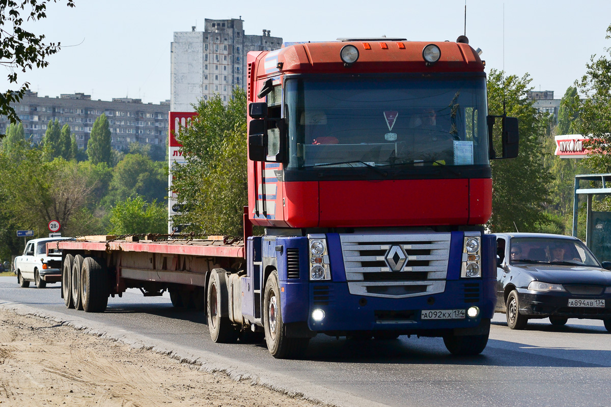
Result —
MULTIPOLYGON (((44 68, 49 62, 46 57, 60 49, 60 43, 44 42, 44 35, 26 31, 35 21, 46 18, 46 6, 57 0, 2 0, 0 1, 0 59, 9 71, 9 84, 17 84, 17 71, 26 72, 32 68, 44 68)), ((74 7, 74 0, 66 0, 68 7, 74 7)), ((20 101, 29 88, 29 82, 16 89, 0 93, 0 115, 6 115, 10 123, 17 123, 19 117, 10 105, 20 101)))

